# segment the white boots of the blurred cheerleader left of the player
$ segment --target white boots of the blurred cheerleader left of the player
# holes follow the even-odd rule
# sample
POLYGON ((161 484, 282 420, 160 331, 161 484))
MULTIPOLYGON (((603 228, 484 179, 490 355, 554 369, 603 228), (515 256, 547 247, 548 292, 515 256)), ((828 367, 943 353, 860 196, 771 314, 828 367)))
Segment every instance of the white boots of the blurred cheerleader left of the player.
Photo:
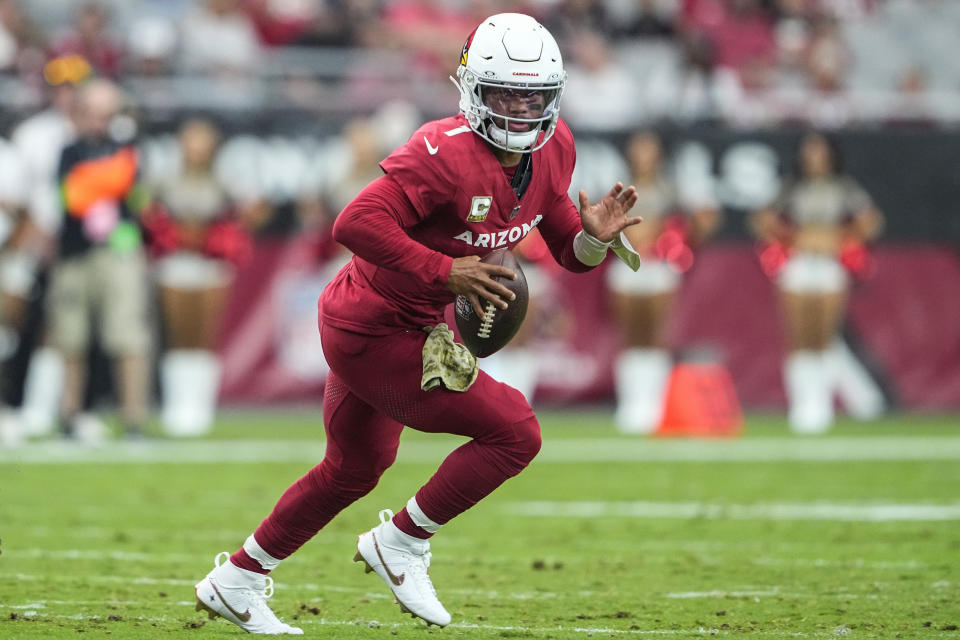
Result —
POLYGON ((176 349, 163 356, 160 421, 172 436, 209 433, 220 389, 220 361, 210 351, 176 349))

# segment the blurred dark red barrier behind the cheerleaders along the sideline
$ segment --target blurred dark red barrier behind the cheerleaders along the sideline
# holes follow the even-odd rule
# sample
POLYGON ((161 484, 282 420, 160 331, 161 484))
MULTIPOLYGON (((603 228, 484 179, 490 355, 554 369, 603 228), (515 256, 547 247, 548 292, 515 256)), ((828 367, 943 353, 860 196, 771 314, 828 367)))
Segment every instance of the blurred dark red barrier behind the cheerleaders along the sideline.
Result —
MULTIPOLYGON (((310 246, 302 239, 260 242, 238 271, 222 329, 225 403, 319 405, 326 365, 316 298, 336 265, 318 265, 310 246)), ((873 275, 853 290, 849 316, 868 362, 903 408, 960 410, 960 258, 916 245, 878 247, 875 259, 873 275)), ((535 339, 538 403, 612 400, 618 338, 604 275, 596 269, 556 276, 559 293, 550 307, 560 329, 535 339)), ((785 406, 774 289, 751 246, 714 245, 698 254, 669 342, 681 355, 707 351, 722 363, 744 407, 785 406)))

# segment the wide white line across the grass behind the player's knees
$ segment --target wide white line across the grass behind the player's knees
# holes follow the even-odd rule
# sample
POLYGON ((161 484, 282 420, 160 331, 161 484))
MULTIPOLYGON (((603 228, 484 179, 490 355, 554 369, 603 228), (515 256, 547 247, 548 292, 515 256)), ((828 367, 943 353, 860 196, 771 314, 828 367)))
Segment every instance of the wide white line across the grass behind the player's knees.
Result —
MULTIPOLYGON (((448 438, 400 446, 399 463, 439 463, 458 446, 448 438)), ((119 442, 86 447, 59 440, 0 449, 3 464, 177 464, 316 463, 320 440, 231 440, 119 442)), ((583 438, 550 440, 535 464, 577 462, 848 462, 876 460, 960 460, 960 437, 742 438, 659 440, 583 438)))

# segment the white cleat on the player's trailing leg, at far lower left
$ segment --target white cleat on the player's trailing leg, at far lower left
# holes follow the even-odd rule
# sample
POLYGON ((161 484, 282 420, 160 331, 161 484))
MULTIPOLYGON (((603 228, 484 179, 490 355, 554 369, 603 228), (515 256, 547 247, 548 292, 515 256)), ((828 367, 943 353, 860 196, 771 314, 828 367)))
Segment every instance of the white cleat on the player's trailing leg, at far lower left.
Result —
POLYGON ((221 558, 230 562, 229 553, 218 553, 213 571, 197 583, 197 611, 206 611, 211 620, 217 616, 226 618, 247 633, 303 635, 303 629, 281 622, 267 605, 267 598, 273 595, 273 578, 260 576, 261 579, 252 578, 245 584, 224 584, 221 558))

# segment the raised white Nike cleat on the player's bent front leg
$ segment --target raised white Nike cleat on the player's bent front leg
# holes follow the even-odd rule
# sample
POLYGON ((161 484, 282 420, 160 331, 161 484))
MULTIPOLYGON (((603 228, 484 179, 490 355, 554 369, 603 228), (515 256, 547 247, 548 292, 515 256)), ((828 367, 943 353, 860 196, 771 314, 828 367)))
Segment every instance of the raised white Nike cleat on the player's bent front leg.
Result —
POLYGON ((422 618, 427 626, 445 627, 450 614, 430 582, 430 543, 408 536, 390 521, 393 512, 380 512, 380 524, 357 538, 354 562, 363 562, 366 572, 376 572, 390 587, 400 610, 422 618))

